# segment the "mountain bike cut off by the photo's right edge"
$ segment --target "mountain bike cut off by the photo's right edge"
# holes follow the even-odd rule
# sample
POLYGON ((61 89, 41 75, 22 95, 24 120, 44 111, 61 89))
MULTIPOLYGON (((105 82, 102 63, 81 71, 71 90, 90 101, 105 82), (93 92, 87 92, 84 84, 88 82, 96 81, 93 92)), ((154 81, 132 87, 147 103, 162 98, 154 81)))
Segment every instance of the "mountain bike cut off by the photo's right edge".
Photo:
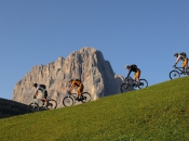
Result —
POLYGON ((173 66, 174 70, 170 72, 170 79, 175 79, 175 78, 179 78, 180 75, 189 75, 189 69, 187 69, 187 72, 184 72, 183 67, 177 67, 177 66, 173 66))

